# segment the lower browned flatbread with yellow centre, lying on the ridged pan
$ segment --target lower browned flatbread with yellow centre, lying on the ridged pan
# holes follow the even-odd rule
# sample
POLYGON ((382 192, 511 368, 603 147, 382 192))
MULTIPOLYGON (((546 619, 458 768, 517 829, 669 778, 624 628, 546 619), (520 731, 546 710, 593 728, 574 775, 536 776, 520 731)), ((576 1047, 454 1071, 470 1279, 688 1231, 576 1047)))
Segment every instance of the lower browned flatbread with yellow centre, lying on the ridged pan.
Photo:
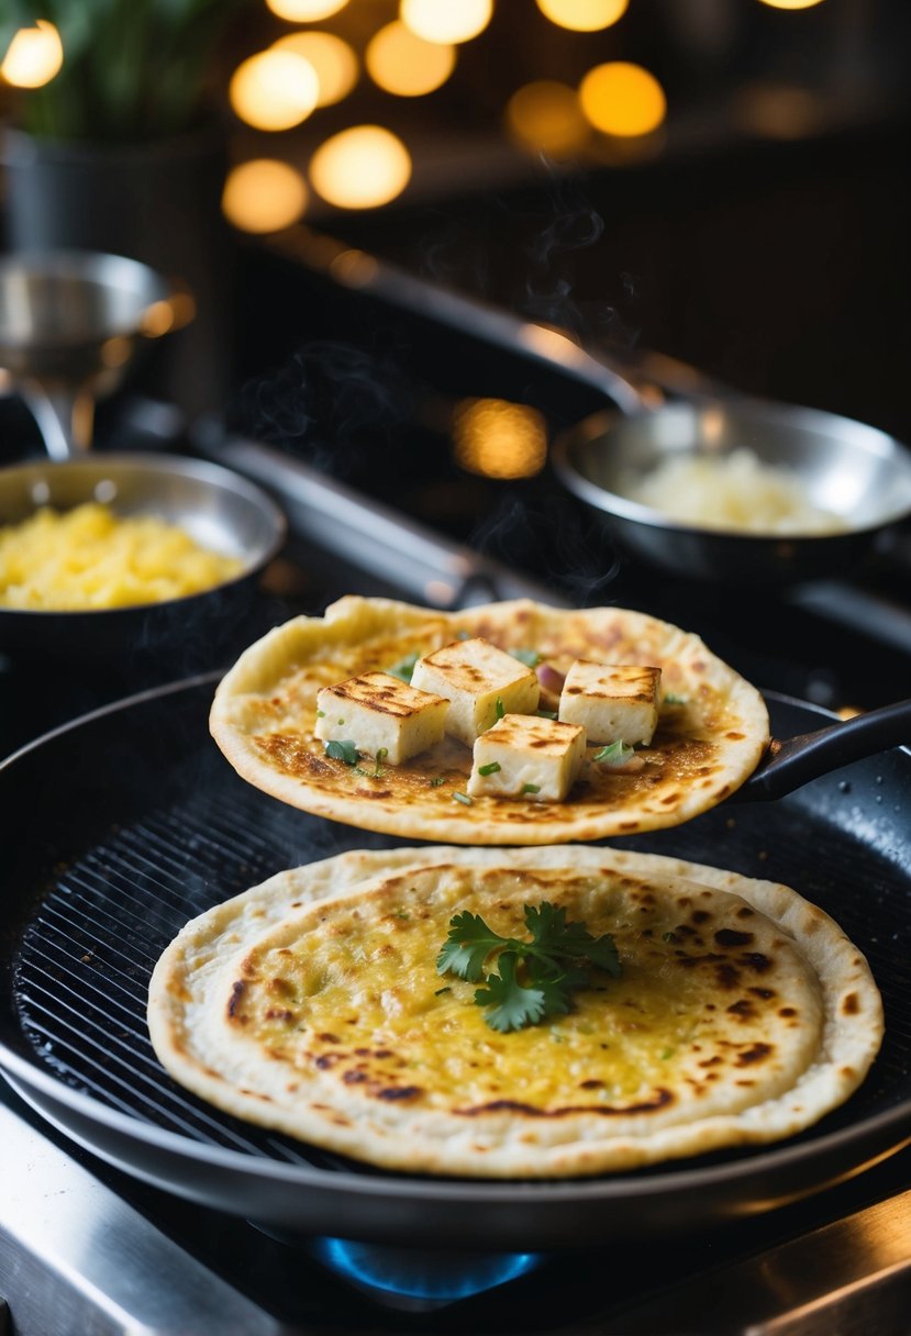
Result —
POLYGON ((218 1108, 411 1173, 545 1178, 768 1142, 863 1081, 867 962, 797 892, 600 847, 355 851, 279 872, 162 955, 150 1033, 218 1108), (562 907, 614 938, 565 1015, 492 1030, 441 977, 450 916, 562 907))

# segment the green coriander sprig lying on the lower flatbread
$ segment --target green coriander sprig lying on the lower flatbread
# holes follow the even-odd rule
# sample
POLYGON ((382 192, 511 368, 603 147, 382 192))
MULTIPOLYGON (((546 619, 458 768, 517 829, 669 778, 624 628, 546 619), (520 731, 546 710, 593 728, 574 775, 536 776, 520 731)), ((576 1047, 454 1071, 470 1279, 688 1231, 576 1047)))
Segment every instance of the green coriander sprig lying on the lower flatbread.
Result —
POLYGON ((585 965, 620 975, 620 959, 609 934, 594 938, 584 923, 568 923, 566 911, 549 900, 525 906, 530 941, 500 937, 480 914, 464 910, 449 921, 449 935, 437 957, 439 974, 480 983, 474 1002, 485 1009, 492 1030, 509 1033, 565 1015, 574 989, 589 985, 585 965), (488 957, 496 969, 485 974, 488 957))

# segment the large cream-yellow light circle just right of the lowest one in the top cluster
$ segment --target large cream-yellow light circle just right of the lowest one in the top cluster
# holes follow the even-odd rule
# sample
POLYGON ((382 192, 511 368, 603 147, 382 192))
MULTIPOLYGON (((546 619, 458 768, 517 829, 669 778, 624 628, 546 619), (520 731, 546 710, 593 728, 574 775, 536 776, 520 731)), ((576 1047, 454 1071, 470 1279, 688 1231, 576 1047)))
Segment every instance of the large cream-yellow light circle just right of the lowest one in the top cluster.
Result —
POLYGON ((321 144, 310 160, 310 180, 338 208, 377 208, 401 195, 411 178, 411 158, 382 126, 353 126, 321 144))

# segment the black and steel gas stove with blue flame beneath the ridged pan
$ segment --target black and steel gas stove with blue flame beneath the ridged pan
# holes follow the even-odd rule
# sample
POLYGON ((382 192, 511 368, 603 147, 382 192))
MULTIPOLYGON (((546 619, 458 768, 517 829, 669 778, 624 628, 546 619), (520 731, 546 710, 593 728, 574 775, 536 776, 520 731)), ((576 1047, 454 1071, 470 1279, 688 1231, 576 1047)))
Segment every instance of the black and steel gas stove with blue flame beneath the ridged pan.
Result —
MULTIPOLYGON (((600 391, 433 313, 339 286, 299 254, 263 251, 250 265, 259 295, 278 287, 287 302, 293 293, 319 342, 279 346, 272 331, 278 370, 247 367, 223 417, 187 432, 139 401, 102 442, 119 446, 127 433, 144 446, 218 458, 282 501, 291 541, 235 648, 351 592, 438 607, 518 596, 609 601, 701 633, 763 688, 846 709, 907 695, 911 599, 900 550, 856 577, 749 600, 655 576, 614 550, 546 468, 504 481, 453 456, 458 402, 532 403, 557 430, 598 407, 600 391)), ((179 665, 211 667, 222 664, 204 661, 199 647, 179 665)), ((156 680, 162 669, 98 680, 8 663, 0 751, 156 680)), ((75 1146, 5 1082, 0 1146, 0 1331, 5 1299, 15 1336, 815 1336, 862 1324, 899 1336, 911 1311, 911 1150, 805 1201, 672 1245, 478 1255, 289 1237, 178 1201, 75 1146)))

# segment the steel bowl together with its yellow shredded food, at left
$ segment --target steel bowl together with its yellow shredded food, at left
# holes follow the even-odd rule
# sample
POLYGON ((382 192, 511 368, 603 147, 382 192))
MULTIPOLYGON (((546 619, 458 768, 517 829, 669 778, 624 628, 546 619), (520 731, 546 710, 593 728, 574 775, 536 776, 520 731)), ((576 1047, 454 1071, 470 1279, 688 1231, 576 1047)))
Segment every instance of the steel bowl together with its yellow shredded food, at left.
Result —
POLYGON ((98 659, 216 649, 285 541, 255 484, 179 456, 0 469, 0 651, 98 659))

